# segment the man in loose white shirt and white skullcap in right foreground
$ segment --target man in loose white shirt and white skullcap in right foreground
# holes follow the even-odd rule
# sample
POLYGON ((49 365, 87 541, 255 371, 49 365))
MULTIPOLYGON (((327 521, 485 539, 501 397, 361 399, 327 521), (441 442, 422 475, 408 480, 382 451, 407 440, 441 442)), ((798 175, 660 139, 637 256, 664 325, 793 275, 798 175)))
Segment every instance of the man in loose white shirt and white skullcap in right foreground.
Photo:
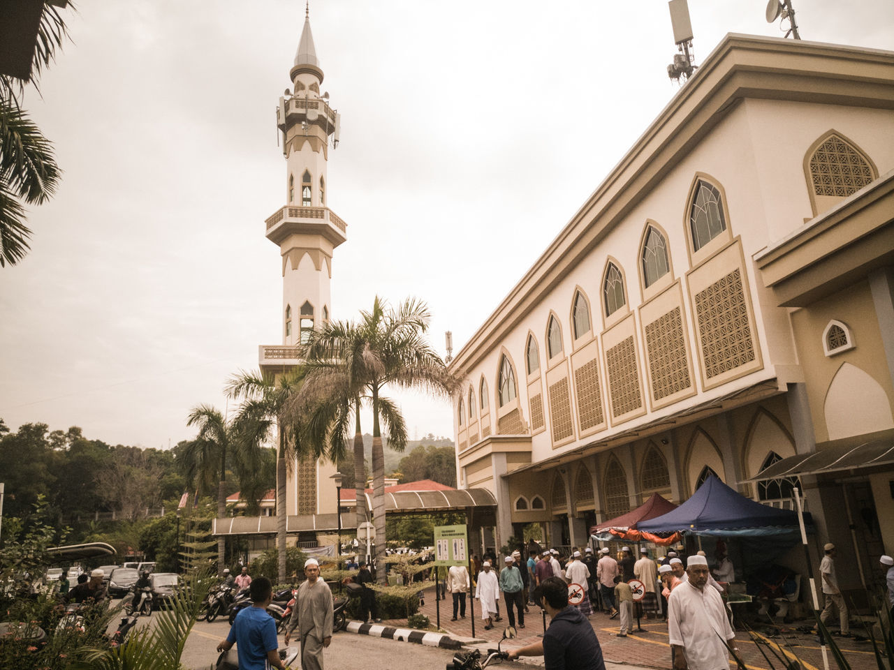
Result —
POLYGON ((674 670, 726 670, 730 654, 723 641, 736 649, 736 633, 730 627, 721 594, 705 588, 708 561, 704 556, 687 560, 689 579, 668 599, 668 635, 674 670))

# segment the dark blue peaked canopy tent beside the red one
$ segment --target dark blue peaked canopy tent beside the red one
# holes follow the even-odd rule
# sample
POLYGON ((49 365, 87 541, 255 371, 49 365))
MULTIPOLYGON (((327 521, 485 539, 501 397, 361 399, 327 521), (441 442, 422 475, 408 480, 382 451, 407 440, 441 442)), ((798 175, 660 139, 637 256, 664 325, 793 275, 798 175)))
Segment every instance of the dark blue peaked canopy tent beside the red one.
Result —
MULTIPOLYGON (((805 514, 805 525, 813 522, 805 514)), ((722 537, 796 535, 797 512, 755 502, 713 475, 685 503, 666 515, 641 521, 645 532, 683 531, 722 537)))

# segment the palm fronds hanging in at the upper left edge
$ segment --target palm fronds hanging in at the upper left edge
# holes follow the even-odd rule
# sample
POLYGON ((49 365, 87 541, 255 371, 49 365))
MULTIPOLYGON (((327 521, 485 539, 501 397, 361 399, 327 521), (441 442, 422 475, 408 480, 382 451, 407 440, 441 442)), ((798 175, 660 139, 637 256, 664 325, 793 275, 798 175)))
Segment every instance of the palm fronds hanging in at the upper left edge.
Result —
MULTIPOLYGON (((52 0, 46 0, 38 26, 32 80, 55 58, 66 34, 52 0)), ((0 267, 18 263, 29 249, 31 231, 25 206, 52 197, 61 170, 53 146, 21 109, 25 80, 0 74, 0 267)))

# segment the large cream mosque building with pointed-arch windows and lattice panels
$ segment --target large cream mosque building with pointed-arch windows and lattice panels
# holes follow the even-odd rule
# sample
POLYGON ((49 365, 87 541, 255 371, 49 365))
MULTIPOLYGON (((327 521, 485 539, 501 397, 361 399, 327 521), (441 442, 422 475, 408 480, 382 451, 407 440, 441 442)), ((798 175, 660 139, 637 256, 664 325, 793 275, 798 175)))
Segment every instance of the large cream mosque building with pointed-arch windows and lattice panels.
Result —
POLYGON ((894 53, 721 40, 451 362, 481 549, 715 474, 797 486, 846 597, 894 552, 892 110, 894 53))

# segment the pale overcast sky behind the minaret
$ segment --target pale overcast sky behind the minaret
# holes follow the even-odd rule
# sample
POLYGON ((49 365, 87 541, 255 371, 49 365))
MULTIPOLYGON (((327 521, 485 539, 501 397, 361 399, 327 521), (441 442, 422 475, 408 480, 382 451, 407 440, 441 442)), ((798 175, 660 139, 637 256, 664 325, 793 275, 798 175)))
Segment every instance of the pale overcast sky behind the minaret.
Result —
MULTIPOLYGON (((894 46, 890 0, 794 1, 805 39, 894 46)), ((30 254, 0 269, 0 417, 166 448, 282 342, 264 221, 285 204, 274 110, 304 4, 77 5, 43 97, 26 96, 64 174, 30 210, 30 254)), ((727 32, 781 36, 764 7, 689 0, 696 63, 727 32)), ((442 355, 443 332, 459 350, 678 90, 665 0, 316 0, 310 20, 342 113, 333 316, 421 297, 442 355)), ((446 401, 401 403, 410 438, 452 437, 446 401)))

